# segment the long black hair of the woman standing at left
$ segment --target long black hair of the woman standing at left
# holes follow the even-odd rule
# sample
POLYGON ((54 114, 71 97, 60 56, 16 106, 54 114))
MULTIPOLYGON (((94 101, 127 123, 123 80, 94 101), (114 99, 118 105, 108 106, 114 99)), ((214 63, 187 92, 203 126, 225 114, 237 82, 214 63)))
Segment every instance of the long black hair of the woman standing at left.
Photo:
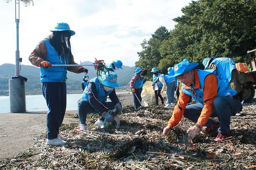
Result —
POLYGON ((70 31, 53 31, 53 34, 50 36, 49 42, 58 52, 59 55, 70 54, 71 45, 70 45, 70 31), (68 37, 67 43, 65 42, 65 37, 68 37))

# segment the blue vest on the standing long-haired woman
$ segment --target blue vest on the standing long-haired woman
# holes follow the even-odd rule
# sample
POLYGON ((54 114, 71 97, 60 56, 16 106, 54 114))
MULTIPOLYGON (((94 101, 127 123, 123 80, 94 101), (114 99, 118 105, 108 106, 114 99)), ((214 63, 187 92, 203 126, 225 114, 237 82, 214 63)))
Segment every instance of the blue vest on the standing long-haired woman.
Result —
MULTIPOLYGON (((68 64, 68 54, 59 56, 58 52, 50 44, 48 39, 46 43, 47 56, 44 60, 51 64, 68 64)), ((41 82, 65 82, 67 80, 67 67, 40 67, 41 82)))

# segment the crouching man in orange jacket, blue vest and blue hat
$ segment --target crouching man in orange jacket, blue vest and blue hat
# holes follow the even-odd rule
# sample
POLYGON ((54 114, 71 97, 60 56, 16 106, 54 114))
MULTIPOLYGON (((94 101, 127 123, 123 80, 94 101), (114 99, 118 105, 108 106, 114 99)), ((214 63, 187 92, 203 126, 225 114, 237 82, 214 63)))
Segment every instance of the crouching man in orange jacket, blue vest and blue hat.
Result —
POLYGON ((189 63, 187 59, 174 66, 174 77, 182 83, 179 101, 174 108, 174 113, 163 129, 163 135, 167 135, 170 128, 175 127, 182 116, 193 121, 195 125, 187 131, 190 138, 194 138, 203 126, 206 133, 214 127, 218 127, 218 134, 214 141, 222 141, 230 137, 230 117, 242 109, 239 100, 233 98, 236 91, 228 87, 214 74, 214 70, 194 69, 197 62, 189 63), (186 106, 189 96, 195 99, 196 104, 186 106), (219 123, 209 119, 217 117, 219 123))

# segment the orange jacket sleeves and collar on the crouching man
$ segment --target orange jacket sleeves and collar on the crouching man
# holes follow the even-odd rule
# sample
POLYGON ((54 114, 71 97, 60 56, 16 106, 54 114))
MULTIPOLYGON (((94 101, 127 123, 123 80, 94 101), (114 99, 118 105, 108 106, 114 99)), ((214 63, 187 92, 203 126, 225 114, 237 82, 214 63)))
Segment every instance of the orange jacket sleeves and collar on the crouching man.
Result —
MULTIPOLYGON (((193 72, 195 76, 194 88, 196 89, 200 87, 200 82, 199 82, 197 71, 194 69, 193 72)), ((184 88, 189 88, 189 87, 184 85, 184 88)), ((189 97, 190 97, 189 95, 184 94, 181 90, 181 94, 179 95, 179 101, 174 108, 172 117, 168 121, 168 126, 175 127, 181 121, 181 118, 188 104, 189 97)), ((210 118, 210 115, 212 114, 212 111, 213 111, 213 101, 215 97, 217 97, 217 78, 214 74, 210 74, 204 80, 203 109, 197 120, 197 123, 196 123, 197 125, 200 125, 201 127, 203 127, 205 123, 208 121, 208 119, 210 118)))

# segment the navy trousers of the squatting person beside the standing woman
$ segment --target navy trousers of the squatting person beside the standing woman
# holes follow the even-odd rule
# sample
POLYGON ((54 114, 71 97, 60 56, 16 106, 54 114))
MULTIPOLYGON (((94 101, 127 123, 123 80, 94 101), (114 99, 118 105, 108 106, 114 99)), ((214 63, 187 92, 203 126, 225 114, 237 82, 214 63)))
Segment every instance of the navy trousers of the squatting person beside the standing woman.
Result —
MULTIPOLYGON (((77 102, 77 104, 78 104, 78 116, 79 116, 80 123, 86 125, 87 113, 97 113, 97 112, 91 106, 91 104, 84 99, 80 99, 77 102)), ((112 110, 115 107, 113 102, 105 102, 104 105, 107 108, 109 108, 109 110, 112 110)), ((101 116, 101 114, 100 114, 100 116, 101 116)))

